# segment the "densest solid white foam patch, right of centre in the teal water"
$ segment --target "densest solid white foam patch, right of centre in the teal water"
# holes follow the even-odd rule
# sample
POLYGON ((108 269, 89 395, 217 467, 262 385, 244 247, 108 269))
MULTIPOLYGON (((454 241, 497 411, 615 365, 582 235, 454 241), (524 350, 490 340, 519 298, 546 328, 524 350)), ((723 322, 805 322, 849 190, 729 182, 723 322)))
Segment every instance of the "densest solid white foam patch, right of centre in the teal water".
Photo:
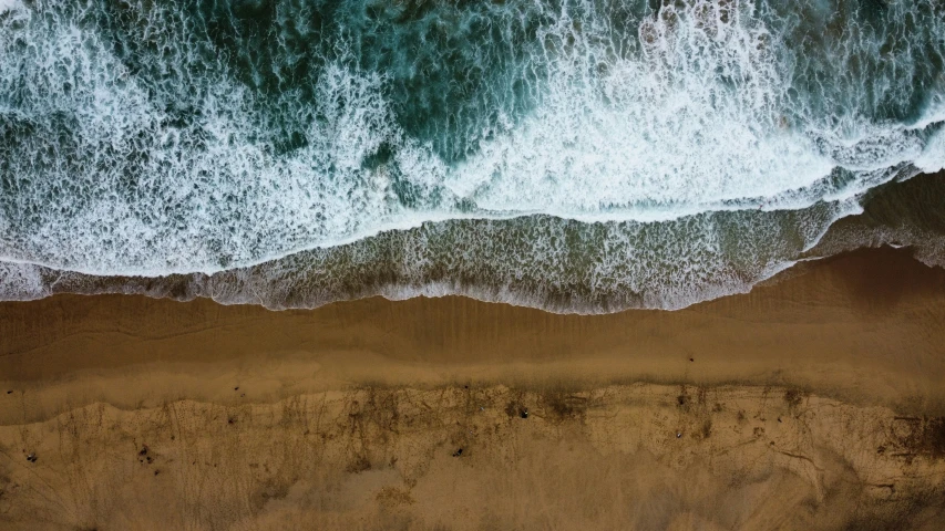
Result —
POLYGON ((695 8, 665 8, 639 28, 641 56, 610 60, 587 42, 590 29, 573 30, 564 18, 566 30, 551 30, 547 40, 573 41, 573 50, 552 63, 542 105, 482 145, 449 186, 496 210, 528 198, 532 208, 562 216, 629 210, 646 219, 653 210, 666 218, 772 198, 826 177, 835 162, 782 115, 787 80, 771 35, 739 11, 722 23, 722 8, 706 6, 711 12, 701 18, 695 8))

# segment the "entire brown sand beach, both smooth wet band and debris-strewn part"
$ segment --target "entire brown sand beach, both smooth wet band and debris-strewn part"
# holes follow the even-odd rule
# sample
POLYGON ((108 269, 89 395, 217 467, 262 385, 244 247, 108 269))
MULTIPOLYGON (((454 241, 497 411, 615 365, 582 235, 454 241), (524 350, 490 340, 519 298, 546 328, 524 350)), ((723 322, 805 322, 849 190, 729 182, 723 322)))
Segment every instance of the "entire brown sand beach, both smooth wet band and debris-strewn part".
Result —
POLYGON ((943 302, 874 250, 678 312, 3 303, 0 528, 943 529, 943 302))

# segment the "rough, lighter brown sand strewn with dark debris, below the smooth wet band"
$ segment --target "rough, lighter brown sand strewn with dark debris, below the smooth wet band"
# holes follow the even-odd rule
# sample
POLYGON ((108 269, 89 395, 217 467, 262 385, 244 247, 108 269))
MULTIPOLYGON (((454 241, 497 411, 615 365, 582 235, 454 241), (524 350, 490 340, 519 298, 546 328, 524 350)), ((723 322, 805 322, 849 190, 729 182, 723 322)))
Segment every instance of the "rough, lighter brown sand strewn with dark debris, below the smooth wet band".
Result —
POLYGON ((941 419, 770 387, 96 404, 0 438, 10 529, 933 530, 945 496, 941 419))

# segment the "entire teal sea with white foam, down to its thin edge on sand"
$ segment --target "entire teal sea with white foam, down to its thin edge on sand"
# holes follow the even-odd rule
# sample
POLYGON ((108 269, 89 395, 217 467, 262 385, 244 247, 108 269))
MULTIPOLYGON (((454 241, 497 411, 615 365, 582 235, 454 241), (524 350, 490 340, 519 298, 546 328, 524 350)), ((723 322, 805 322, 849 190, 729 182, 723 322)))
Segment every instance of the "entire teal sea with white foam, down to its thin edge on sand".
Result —
POLYGON ((0 0, 0 299, 681 308, 945 167, 938 0, 0 0))

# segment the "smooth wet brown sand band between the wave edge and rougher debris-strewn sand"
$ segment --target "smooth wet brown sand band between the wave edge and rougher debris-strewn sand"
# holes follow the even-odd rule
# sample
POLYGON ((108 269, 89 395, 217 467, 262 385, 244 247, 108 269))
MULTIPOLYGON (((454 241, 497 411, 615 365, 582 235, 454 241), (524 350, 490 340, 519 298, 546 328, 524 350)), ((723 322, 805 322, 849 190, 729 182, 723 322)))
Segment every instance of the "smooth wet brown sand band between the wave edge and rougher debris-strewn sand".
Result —
POLYGON ((892 249, 803 263, 750 293, 672 312, 562 315, 459 296, 273 312, 54 295, 0 303, 0 387, 29 394, 21 410, 0 409, 0 424, 48 418, 63 404, 226 400, 240 385, 253 400, 276 402, 464 381, 780 385, 937 414, 943 295, 945 270, 892 249))

